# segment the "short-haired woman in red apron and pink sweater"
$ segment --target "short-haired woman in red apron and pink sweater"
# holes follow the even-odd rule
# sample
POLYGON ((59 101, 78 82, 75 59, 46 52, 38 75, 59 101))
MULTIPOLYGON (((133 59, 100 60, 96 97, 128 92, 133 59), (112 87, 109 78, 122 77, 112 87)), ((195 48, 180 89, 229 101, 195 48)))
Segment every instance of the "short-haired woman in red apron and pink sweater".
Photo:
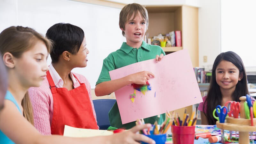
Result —
POLYGON ((71 72, 87 65, 84 31, 59 23, 49 28, 46 36, 54 42, 52 64, 43 84, 28 90, 35 127, 45 135, 63 135, 65 125, 98 129, 91 86, 84 76, 71 72))

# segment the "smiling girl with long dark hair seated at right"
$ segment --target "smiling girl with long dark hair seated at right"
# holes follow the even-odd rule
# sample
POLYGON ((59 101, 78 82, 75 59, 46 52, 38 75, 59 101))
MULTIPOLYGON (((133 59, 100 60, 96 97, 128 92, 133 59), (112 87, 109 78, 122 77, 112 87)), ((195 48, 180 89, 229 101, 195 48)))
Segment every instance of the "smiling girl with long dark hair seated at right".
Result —
POLYGON ((244 64, 235 52, 222 52, 216 57, 207 93, 198 107, 202 124, 207 125, 216 123, 212 112, 217 105, 224 106, 227 101, 240 101, 239 97, 249 94, 244 64))

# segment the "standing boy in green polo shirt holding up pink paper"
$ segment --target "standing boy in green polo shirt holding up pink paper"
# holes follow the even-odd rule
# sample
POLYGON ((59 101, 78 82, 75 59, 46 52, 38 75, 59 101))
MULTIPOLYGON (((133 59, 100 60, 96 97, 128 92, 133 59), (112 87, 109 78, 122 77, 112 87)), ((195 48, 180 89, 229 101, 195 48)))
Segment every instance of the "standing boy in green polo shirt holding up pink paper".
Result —
MULTIPOLYGON (((111 80, 109 71, 121 68, 139 61, 156 58, 160 61, 165 55, 163 49, 157 45, 150 45, 143 41, 148 29, 148 12, 140 4, 128 4, 124 6, 119 15, 119 27, 126 38, 120 49, 112 52, 103 60, 103 66, 98 81, 96 82, 96 96, 108 95, 129 84, 146 84, 147 80, 154 74, 148 71, 141 71, 120 79, 111 80), (160 55, 160 56, 159 56, 160 55)), ((130 129, 135 122, 122 124, 117 103, 110 109, 110 125, 116 128, 130 129)), ((140 119, 141 117, 138 117, 140 119)), ((145 123, 154 124, 157 116, 145 118, 145 123)), ((165 120, 165 114, 160 115, 158 124, 165 120)))

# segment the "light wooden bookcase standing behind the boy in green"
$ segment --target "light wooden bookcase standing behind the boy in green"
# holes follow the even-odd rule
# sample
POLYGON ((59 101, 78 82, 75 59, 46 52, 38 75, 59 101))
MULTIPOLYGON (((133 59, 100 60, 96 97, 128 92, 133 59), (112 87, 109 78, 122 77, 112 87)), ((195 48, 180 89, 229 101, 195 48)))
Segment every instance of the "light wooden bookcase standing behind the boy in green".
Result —
MULTIPOLYGON (((166 54, 187 49, 193 67, 198 67, 198 8, 186 5, 144 5, 148 10, 148 30, 151 38, 159 33, 181 31, 181 47, 162 47, 166 54)), ((192 114, 193 106, 188 106, 187 113, 192 114)), ((185 108, 175 110, 183 116, 185 108)))

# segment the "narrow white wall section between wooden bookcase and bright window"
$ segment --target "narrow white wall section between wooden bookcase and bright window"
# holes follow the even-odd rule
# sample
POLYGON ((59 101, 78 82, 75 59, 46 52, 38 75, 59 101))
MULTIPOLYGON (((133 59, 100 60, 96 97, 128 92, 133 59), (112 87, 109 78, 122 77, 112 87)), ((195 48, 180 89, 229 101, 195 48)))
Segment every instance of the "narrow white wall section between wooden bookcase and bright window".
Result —
POLYGON ((220 54, 220 0, 201 0, 198 9, 199 66, 212 69, 220 54), (207 56, 207 62, 203 57, 207 56), (208 66, 208 67, 207 67, 208 66))

